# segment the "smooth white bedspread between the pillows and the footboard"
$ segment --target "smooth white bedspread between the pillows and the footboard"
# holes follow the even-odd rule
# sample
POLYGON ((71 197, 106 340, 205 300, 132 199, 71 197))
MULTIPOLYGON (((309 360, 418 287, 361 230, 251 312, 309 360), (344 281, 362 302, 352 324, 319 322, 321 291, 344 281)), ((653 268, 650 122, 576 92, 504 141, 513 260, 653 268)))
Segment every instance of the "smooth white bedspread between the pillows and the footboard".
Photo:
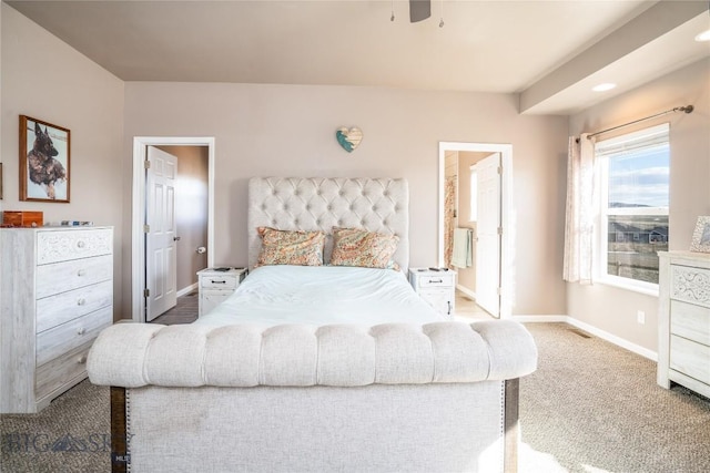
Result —
POLYGON ((444 320, 392 269, 263 266, 200 325, 426 323, 444 320))

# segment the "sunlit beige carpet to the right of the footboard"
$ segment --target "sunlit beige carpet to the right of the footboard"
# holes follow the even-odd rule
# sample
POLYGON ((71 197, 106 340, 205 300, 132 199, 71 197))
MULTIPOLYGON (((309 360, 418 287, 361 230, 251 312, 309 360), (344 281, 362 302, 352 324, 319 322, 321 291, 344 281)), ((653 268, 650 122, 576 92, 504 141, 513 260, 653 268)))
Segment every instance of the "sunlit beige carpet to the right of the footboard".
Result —
POLYGON ((710 400, 656 384, 656 362, 565 323, 528 323, 520 472, 710 472, 710 400))

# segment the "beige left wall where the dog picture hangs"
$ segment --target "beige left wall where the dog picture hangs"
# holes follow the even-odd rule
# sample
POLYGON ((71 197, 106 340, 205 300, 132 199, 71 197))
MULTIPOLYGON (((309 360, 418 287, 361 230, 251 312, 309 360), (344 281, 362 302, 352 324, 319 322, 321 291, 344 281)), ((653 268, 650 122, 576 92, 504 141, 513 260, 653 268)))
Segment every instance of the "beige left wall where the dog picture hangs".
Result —
MULTIPOLYGON (((41 210, 44 222, 114 226, 114 313, 123 277, 123 82, 2 3, 2 144, 4 210, 41 210), (69 204, 19 200, 20 114, 71 131, 69 204)), ((128 188, 130 192, 130 186, 128 188)), ((130 249, 130 248, 128 248, 130 249)), ((128 288, 126 288, 128 289, 128 288)))

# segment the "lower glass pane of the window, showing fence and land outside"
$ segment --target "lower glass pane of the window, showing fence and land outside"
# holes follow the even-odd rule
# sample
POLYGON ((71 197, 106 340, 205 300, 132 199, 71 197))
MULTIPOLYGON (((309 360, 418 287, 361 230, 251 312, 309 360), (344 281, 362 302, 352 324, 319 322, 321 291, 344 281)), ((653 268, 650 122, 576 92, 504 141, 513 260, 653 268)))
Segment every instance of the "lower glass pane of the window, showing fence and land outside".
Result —
POLYGON ((668 216, 610 215, 607 273, 658 284, 657 251, 668 250, 668 216))

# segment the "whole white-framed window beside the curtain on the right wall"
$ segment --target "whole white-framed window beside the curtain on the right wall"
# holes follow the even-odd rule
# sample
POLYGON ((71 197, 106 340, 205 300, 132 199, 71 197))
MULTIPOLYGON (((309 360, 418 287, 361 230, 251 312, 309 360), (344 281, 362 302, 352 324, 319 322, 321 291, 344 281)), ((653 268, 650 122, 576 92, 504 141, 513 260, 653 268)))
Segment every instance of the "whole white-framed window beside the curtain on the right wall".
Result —
POLYGON ((599 141, 599 279, 658 289, 658 251, 668 249, 669 126, 599 141))

